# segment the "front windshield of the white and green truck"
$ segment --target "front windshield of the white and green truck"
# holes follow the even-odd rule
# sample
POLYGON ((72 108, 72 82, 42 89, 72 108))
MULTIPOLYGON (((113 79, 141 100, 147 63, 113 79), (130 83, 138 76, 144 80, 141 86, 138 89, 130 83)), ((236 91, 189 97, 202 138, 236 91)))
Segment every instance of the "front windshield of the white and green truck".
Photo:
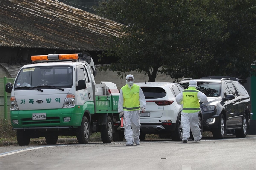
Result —
MULTIPOLYGON (((40 86, 40 89, 52 89, 53 86, 71 88, 73 83, 72 70, 71 66, 23 68, 17 75, 14 88, 38 86, 40 86)), ((29 90, 29 88, 26 89, 29 90)), ((17 90, 24 90, 24 88, 18 88, 17 90)))

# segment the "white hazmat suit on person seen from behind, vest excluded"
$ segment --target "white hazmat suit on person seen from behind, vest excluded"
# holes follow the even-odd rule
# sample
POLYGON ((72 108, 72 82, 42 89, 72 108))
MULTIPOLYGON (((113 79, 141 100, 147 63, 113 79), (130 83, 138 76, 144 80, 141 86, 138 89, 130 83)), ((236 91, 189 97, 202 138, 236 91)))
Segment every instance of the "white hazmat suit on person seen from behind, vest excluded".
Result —
MULTIPOLYGON (((197 81, 191 80, 189 82, 189 87, 194 87, 195 89, 197 87, 197 81)), ((201 102, 208 102, 206 95, 200 91, 197 93, 197 98, 201 102)), ((183 104, 183 92, 177 95, 176 102, 180 105, 183 104)), ((198 111, 192 113, 181 112, 182 141, 185 143, 189 139, 190 128, 194 137, 194 141, 199 141, 202 138, 200 128, 198 125, 198 113, 198 111)))

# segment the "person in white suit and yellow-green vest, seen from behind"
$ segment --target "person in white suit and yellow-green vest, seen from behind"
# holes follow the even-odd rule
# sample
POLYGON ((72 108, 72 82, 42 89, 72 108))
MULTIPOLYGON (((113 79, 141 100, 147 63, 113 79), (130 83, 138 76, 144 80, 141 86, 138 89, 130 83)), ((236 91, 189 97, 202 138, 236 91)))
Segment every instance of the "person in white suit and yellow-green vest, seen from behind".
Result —
POLYGON ((200 128, 198 113, 200 111, 201 102, 208 102, 207 97, 204 93, 196 90, 197 81, 190 80, 189 87, 183 90, 176 97, 176 102, 178 104, 183 104, 183 109, 181 112, 181 127, 182 127, 182 142, 186 143, 190 136, 190 128, 194 137, 194 141, 199 141, 202 138, 200 128))

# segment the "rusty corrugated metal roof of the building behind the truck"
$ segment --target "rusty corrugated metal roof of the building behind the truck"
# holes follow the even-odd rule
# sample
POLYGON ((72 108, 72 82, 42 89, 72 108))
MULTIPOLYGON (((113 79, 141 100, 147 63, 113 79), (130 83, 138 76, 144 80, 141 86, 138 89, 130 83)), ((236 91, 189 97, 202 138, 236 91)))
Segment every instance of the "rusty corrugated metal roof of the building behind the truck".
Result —
POLYGON ((102 51, 120 24, 57 0, 1 0, 0 46, 102 51))

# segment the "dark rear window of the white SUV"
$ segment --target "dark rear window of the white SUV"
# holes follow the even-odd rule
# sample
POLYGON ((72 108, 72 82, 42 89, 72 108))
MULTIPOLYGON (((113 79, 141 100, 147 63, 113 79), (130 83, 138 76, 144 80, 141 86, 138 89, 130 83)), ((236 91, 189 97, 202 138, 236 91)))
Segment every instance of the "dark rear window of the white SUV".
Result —
POLYGON ((158 99, 166 96, 164 89, 159 87, 140 87, 146 99, 158 99))

